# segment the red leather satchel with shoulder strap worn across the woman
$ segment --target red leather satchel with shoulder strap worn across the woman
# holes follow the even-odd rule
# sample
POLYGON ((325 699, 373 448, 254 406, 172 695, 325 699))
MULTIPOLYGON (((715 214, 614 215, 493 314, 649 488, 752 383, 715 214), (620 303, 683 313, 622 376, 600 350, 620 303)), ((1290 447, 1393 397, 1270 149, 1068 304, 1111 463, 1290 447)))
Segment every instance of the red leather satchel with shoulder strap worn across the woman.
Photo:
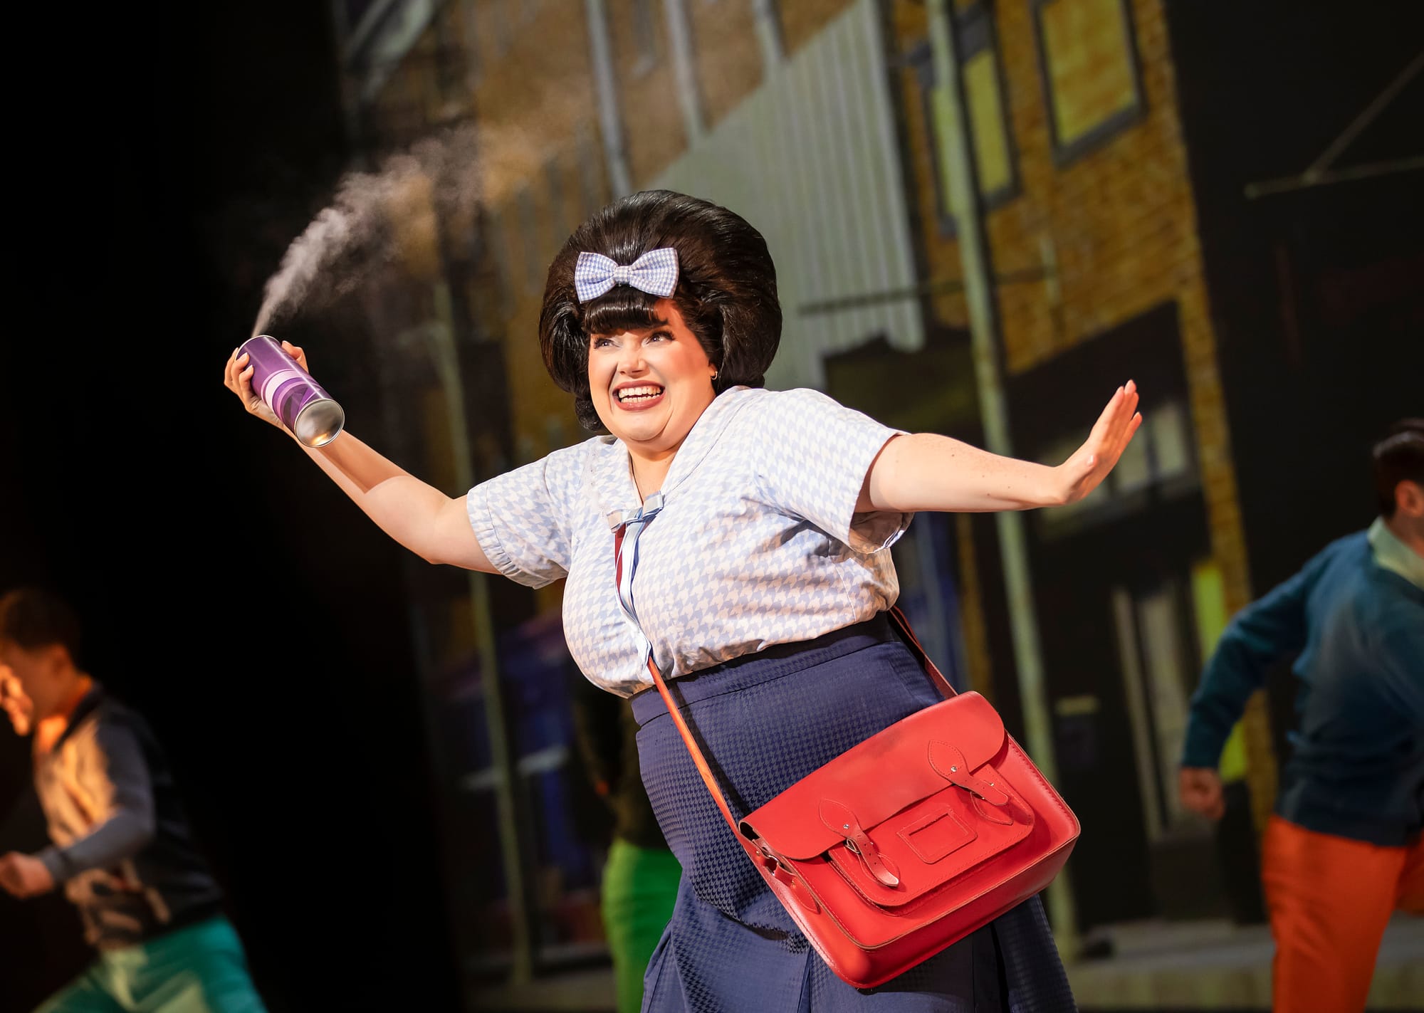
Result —
POLYGON ((776 899, 856 987, 913 967, 1044 889, 1078 820, 978 693, 958 693, 899 609, 946 700, 842 753, 738 822, 649 659, 708 791, 776 899))

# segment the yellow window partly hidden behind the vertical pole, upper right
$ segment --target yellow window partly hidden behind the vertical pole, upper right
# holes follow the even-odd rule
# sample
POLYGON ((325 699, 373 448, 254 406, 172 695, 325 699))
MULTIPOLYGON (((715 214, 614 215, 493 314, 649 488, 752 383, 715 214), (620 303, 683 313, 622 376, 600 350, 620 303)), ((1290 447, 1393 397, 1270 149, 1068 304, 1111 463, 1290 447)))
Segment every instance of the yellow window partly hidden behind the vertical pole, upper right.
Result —
MULTIPOLYGON (((960 60, 960 80, 964 107, 974 139, 974 168, 978 174, 980 198, 985 209, 997 208, 1018 192, 1014 169, 1014 138, 1008 128, 1004 100, 1004 74, 994 37, 994 17, 988 7, 975 3, 956 14, 956 48, 960 60)), ((954 235, 954 212, 950 208, 947 166, 940 158, 940 137, 934 117, 934 57, 928 43, 911 50, 907 63, 914 68, 920 85, 920 115, 924 118, 930 145, 930 172, 934 178, 934 206, 940 221, 940 235, 954 235)))

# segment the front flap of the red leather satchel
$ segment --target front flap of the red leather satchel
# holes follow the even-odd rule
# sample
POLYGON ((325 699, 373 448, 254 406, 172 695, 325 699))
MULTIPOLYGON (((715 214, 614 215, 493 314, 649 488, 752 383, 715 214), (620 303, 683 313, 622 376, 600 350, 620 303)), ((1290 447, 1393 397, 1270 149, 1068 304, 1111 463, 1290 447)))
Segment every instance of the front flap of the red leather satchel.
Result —
POLYGON ((973 771, 1004 747, 1004 721, 978 693, 960 693, 926 707, 749 812, 742 820, 742 832, 760 838, 786 858, 819 855, 847 837, 844 828, 823 821, 822 802, 834 804, 824 811, 846 807, 870 829, 950 787, 931 763, 931 743, 951 744, 973 771))

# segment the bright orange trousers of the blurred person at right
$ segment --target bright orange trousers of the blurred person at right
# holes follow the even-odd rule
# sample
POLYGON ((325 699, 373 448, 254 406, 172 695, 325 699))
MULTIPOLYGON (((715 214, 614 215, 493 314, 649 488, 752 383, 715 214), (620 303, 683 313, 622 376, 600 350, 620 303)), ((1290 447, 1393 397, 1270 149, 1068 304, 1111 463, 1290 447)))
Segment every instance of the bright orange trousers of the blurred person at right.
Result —
POLYGON ((1272 817, 1262 882, 1276 1013, 1361 1013, 1396 908, 1424 915, 1424 841, 1383 848, 1272 817))

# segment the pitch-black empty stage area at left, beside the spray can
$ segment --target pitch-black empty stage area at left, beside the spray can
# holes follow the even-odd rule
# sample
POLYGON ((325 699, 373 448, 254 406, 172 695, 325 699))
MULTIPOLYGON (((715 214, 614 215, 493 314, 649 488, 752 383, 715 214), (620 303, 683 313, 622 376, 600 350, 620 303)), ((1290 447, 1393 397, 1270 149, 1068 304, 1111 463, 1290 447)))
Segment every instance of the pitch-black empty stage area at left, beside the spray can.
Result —
MULTIPOLYGON (((7 144, 0 588, 68 598, 155 726, 272 1010, 456 1009, 400 549, 221 381, 343 165, 328 6, 46 11, 7 144)), ((41 842, 27 747, 0 730, 0 849, 41 842)), ((0 896, 0 939, 6 1013, 88 958, 53 895, 0 896)))

